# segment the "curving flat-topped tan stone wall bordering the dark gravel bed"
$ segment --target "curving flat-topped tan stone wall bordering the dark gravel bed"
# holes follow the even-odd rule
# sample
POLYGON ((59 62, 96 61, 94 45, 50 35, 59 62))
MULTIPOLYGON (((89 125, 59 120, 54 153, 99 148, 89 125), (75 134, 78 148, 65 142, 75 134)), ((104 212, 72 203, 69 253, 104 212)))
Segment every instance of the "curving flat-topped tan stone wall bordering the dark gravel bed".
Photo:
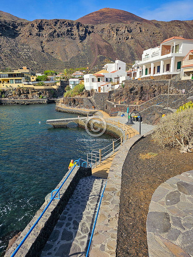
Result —
POLYGON ((136 135, 125 142, 113 159, 94 230, 90 257, 116 256, 122 168, 129 150, 142 137, 136 135))

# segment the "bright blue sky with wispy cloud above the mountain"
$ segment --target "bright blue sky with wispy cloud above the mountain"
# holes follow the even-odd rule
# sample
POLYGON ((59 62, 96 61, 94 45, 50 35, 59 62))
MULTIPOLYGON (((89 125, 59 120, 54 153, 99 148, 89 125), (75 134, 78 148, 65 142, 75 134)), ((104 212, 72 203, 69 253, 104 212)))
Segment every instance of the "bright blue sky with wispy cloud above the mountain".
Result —
POLYGON ((76 20, 101 8, 115 8, 134 13, 148 20, 193 20, 193 1, 128 1, 128 0, 0 0, 0 10, 26 20, 76 20))

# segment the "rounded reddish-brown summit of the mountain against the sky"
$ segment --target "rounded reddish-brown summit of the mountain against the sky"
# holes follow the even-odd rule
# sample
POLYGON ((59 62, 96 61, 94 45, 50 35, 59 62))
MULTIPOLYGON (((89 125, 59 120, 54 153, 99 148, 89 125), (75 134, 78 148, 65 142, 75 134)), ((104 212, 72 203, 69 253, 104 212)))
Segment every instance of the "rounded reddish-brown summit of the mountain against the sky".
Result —
POLYGON ((89 13, 82 18, 79 18, 77 21, 82 24, 106 24, 106 23, 126 23, 130 24, 131 22, 147 22, 152 24, 151 21, 145 20, 133 13, 129 13, 123 10, 112 9, 112 8, 103 8, 99 11, 89 13))

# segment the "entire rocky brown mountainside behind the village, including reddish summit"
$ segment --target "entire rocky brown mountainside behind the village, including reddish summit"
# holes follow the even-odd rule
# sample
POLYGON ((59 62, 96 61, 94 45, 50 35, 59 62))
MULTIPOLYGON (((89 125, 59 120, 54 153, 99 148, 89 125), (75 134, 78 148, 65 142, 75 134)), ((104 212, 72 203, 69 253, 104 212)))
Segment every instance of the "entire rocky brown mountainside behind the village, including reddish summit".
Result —
POLYGON ((27 21, 0 11, 0 69, 23 65, 40 72, 100 68, 117 58, 132 64, 141 59, 143 50, 159 45, 168 36, 193 39, 192 27, 193 21, 148 21, 110 8, 77 21, 27 21))

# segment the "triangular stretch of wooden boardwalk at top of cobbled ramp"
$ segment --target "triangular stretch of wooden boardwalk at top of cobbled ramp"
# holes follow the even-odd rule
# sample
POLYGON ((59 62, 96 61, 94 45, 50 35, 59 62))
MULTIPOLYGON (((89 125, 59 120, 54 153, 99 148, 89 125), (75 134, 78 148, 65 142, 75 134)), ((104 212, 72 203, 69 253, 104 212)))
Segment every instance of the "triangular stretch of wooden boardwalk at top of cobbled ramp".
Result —
POLYGON ((116 152, 114 152, 110 157, 106 158, 96 168, 93 168, 92 176, 99 177, 99 178, 107 178, 109 169, 111 167, 111 163, 112 163, 115 155, 116 155, 116 152))

